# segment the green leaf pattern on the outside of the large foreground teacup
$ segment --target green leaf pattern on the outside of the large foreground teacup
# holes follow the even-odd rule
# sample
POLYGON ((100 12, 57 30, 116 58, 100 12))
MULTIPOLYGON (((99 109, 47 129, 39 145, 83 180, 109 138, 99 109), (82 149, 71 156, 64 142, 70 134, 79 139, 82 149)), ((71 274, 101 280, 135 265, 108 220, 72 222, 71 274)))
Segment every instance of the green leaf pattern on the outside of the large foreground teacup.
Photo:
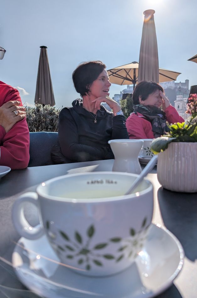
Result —
POLYGON ((136 233, 135 229, 130 228, 128 231, 128 237, 111 237, 109 240, 98 243, 93 247, 91 246, 91 240, 96 232, 93 224, 88 227, 85 237, 83 237, 78 231, 75 231, 72 239, 71 236, 68 236, 65 232, 60 230, 59 234, 65 241, 65 244, 61 244, 61 246, 53 243, 54 238, 51 237, 50 221, 46 222, 45 228, 48 231, 50 242, 58 254, 64 254, 67 259, 76 259, 78 265, 82 266, 86 270, 91 270, 92 264, 103 267, 104 264, 102 259, 117 263, 125 258, 130 259, 136 257, 143 246, 144 239, 146 238, 148 228, 145 228, 146 222, 147 218, 144 218, 141 224, 141 229, 143 230, 139 231, 140 235, 139 233, 136 233), (104 250, 109 244, 117 247, 116 256, 109 253, 102 253, 102 250, 104 250))

